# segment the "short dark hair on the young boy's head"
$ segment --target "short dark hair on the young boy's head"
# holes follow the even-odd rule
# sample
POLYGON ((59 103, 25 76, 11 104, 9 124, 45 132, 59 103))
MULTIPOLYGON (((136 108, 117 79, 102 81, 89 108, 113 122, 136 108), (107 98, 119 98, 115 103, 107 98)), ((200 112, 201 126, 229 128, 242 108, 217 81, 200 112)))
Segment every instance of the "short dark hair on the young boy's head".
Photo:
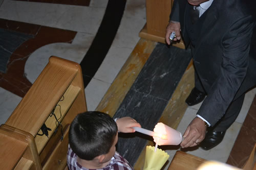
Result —
POLYGON ((87 111, 78 114, 70 125, 69 144, 84 160, 107 154, 117 134, 115 120, 106 113, 87 111))

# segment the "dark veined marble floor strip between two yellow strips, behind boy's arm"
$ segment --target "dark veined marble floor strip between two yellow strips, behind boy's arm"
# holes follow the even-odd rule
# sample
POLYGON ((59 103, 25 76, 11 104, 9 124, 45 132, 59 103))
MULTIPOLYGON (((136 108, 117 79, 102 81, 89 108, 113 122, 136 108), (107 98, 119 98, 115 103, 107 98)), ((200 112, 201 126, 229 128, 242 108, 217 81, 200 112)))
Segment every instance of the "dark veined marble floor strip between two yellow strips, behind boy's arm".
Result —
MULTIPOLYGON (((142 128, 153 130, 190 60, 189 50, 157 44, 114 117, 131 116, 142 128)), ((147 140, 153 139, 119 134, 117 151, 134 166, 147 140)))

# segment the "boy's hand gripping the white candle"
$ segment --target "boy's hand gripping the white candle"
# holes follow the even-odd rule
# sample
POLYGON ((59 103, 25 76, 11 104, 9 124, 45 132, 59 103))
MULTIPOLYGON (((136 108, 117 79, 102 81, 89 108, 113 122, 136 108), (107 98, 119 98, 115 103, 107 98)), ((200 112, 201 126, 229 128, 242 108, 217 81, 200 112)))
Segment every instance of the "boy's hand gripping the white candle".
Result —
POLYGON ((116 120, 117 128, 119 132, 122 133, 132 133, 135 132, 135 129, 132 127, 140 127, 140 124, 131 117, 122 117, 116 120))

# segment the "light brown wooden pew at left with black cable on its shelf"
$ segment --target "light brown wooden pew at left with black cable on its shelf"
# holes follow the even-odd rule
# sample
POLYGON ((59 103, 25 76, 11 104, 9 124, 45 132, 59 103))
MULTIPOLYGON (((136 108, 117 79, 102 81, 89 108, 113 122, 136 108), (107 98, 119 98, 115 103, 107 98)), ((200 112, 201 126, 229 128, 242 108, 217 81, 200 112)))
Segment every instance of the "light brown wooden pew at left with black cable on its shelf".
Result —
POLYGON ((87 111, 80 65, 50 57, 28 93, 0 126, 1 169, 67 169, 69 124, 87 111), (46 125, 49 136, 42 134, 46 125))

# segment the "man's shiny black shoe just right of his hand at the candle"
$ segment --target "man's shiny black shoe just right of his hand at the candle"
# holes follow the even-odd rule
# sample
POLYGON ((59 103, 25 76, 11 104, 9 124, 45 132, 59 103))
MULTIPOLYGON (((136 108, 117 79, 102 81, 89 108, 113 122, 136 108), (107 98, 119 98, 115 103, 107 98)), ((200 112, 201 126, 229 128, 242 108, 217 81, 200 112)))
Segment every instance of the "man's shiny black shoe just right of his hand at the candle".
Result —
POLYGON ((206 151, 216 147, 222 141, 225 133, 226 131, 208 131, 205 135, 204 140, 200 143, 200 147, 206 151))

